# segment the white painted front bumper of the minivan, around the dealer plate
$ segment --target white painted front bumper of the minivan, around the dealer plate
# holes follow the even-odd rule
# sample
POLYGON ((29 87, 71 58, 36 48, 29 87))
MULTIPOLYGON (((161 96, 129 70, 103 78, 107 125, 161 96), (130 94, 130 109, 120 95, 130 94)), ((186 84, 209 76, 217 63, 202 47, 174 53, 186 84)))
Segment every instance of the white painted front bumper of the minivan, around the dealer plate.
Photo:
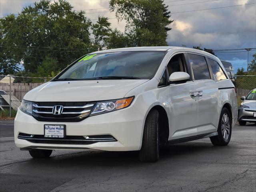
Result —
POLYGON ((106 114, 89 116, 81 122, 40 122, 18 109, 14 120, 14 141, 16 146, 21 149, 140 150, 143 124, 144 116, 133 106, 106 114), (110 135, 117 141, 92 144, 49 144, 29 142, 18 138, 20 133, 43 136, 44 124, 65 124, 66 136, 110 135))

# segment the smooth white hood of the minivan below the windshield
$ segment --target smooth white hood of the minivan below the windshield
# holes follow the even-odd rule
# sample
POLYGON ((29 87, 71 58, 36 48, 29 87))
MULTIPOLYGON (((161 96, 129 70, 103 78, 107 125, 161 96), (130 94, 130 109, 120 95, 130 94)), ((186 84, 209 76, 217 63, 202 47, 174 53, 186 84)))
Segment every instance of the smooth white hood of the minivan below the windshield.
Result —
POLYGON ((124 98, 127 92, 148 80, 53 81, 30 90, 24 100, 34 102, 99 101, 124 98))

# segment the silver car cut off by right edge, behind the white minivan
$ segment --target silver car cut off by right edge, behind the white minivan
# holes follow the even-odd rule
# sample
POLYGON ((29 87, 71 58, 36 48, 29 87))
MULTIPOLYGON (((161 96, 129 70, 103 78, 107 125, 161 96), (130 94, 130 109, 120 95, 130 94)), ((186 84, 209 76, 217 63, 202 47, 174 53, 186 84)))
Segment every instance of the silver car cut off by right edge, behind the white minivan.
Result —
POLYGON ((247 97, 241 97, 243 102, 238 109, 238 122, 240 125, 246 125, 246 122, 256 124, 256 88, 252 90, 247 97))

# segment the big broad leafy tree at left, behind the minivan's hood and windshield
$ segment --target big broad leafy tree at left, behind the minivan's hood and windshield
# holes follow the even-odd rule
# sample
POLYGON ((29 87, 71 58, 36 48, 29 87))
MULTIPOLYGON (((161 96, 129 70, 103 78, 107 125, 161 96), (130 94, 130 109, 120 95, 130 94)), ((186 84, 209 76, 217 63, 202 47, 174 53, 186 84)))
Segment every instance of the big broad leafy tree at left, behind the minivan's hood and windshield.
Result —
POLYGON ((34 6, 25 7, 17 17, 1 18, 4 54, 4 57, 0 55, 1 62, 4 60, 14 69, 13 66, 23 60, 26 72, 42 76, 46 71, 47 74, 50 72, 44 71, 50 66, 52 70, 62 70, 93 51, 89 32, 91 22, 84 12, 74 12, 72 8, 65 0, 53 3, 41 0, 34 6))

